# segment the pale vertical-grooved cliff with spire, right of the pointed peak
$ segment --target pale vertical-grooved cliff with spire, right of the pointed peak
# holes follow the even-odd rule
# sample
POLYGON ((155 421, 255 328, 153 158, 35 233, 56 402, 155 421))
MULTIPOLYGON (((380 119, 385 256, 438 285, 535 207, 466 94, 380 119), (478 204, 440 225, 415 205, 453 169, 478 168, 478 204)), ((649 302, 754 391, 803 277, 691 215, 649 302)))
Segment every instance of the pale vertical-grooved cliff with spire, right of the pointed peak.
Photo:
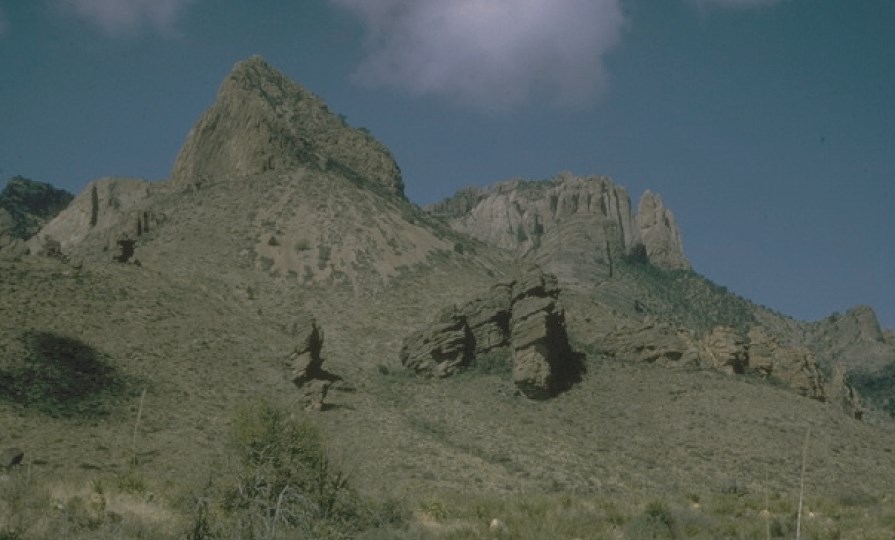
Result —
POLYGON ((611 273, 614 261, 641 245, 657 266, 690 267, 674 216, 658 195, 647 191, 635 214, 628 192, 606 177, 561 175, 467 188, 428 210, 566 279, 592 276, 594 266, 611 273))

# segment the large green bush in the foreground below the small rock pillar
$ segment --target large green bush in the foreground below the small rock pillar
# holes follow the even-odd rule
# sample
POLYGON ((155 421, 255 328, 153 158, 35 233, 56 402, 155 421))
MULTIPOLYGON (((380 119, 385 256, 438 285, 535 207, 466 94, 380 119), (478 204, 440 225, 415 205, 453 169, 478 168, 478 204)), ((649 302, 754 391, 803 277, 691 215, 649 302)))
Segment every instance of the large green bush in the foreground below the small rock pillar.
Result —
POLYGON ((361 498, 334 467, 316 425, 267 401, 231 418, 231 470, 191 497, 188 538, 342 538, 400 527, 388 501, 361 498))

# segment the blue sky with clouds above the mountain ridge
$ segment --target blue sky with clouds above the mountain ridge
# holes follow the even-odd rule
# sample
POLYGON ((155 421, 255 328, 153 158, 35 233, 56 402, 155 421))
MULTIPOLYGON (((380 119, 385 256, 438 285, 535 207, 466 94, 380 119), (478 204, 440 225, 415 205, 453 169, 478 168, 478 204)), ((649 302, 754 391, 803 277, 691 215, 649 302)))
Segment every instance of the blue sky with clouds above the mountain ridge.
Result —
POLYGON ((895 327, 891 0, 0 0, 0 179, 167 177, 261 54, 420 204, 560 171, 659 192, 700 273, 895 327))

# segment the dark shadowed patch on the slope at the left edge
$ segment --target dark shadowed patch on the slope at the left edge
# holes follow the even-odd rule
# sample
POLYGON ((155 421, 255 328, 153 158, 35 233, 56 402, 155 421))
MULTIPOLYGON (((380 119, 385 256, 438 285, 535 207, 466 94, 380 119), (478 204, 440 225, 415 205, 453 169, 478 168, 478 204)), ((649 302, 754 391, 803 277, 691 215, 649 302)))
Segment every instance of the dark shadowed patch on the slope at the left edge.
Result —
POLYGON ((52 332, 22 336, 20 365, 0 370, 0 399, 53 417, 109 414, 126 381, 90 345, 52 332))

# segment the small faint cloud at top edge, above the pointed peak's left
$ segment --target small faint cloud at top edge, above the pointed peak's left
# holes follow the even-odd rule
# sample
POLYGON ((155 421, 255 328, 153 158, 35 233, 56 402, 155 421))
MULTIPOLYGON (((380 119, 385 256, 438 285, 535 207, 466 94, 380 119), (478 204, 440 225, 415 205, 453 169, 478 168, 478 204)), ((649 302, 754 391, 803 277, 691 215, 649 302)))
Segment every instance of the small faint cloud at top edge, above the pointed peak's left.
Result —
POLYGON ((112 36, 151 29, 171 32, 184 8, 195 0, 56 0, 68 13, 112 36))

